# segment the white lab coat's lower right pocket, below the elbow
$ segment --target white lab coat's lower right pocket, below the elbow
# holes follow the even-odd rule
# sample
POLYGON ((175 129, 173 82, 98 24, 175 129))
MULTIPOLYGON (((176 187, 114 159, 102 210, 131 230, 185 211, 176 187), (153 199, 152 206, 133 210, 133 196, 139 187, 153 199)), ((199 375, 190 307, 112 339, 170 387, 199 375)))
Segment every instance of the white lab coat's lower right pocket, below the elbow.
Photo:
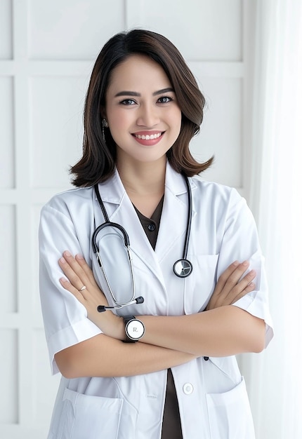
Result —
POLYGON ((225 393, 208 393, 211 439, 255 439, 244 378, 225 393))

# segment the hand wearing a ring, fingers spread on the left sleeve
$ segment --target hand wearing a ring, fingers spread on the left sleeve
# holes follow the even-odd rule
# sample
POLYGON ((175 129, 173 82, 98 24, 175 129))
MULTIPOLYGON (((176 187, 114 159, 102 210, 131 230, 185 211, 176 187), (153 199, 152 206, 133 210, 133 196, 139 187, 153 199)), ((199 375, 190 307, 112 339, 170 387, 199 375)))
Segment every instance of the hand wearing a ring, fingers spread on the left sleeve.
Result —
POLYGON ((67 250, 59 259, 59 265, 66 278, 60 278, 60 284, 65 290, 71 292, 87 310, 87 317, 95 323, 100 330, 110 337, 124 337, 121 332, 122 318, 112 311, 98 312, 98 305, 108 306, 107 299, 98 287, 88 264, 81 255, 74 258, 67 250), (83 290, 81 288, 85 286, 83 290))

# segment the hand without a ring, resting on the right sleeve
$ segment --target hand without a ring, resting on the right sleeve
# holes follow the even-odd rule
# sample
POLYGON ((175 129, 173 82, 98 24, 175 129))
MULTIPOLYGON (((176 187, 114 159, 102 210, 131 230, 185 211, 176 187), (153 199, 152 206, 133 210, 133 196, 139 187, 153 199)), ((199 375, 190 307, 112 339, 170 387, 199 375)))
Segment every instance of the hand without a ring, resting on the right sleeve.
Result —
POLYGON ((249 271, 249 273, 239 281, 248 267, 249 262, 244 261, 240 264, 236 261, 223 271, 211 295, 211 299, 206 306, 206 311, 218 308, 219 306, 231 305, 241 297, 247 295, 248 292, 254 290, 255 284, 252 281, 256 277, 255 270, 249 271))

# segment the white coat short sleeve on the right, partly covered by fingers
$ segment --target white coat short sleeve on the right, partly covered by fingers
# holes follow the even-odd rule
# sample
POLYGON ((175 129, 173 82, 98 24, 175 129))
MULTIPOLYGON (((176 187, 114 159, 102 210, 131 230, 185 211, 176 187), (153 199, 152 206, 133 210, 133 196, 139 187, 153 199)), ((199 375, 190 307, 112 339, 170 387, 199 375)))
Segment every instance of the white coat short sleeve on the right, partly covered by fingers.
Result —
POLYGON ((225 232, 218 259, 217 277, 235 259, 249 261, 249 270, 256 271, 254 291, 245 295, 233 305, 265 321, 265 347, 273 338, 273 323, 268 306, 268 283, 265 275, 265 259, 258 241, 256 223, 247 202, 232 190, 225 232))

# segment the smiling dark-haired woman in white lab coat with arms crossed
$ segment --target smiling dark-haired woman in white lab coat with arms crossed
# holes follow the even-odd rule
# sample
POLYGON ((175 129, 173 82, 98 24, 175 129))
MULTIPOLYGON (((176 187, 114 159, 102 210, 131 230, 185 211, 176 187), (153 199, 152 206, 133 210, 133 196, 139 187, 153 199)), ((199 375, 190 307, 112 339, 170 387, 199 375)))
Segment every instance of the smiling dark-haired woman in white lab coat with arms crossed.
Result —
POLYGON ((48 438, 254 438, 235 354, 273 336, 263 257, 237 191, 197 176, 211 164, 189 151, 203 107, 164 36, 117 34, 98 55, 78 189, 41 212, 41 304, 63 374, 48 438))

